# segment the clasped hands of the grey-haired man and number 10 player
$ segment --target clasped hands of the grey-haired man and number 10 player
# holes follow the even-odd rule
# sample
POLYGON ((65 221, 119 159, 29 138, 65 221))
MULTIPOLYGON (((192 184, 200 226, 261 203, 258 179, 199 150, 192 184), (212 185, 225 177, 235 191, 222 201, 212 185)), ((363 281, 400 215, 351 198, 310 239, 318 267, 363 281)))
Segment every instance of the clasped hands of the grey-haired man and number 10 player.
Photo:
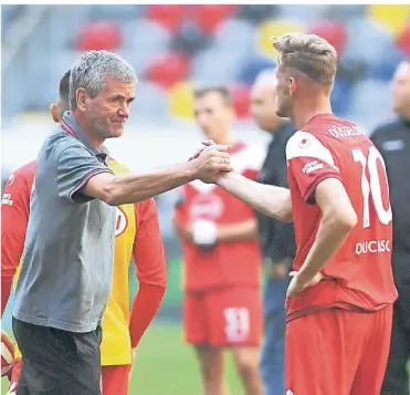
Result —
POLYGON ((223 174, 232 171, 229 146, 212 139, 202 142, 197 152, 188 159, 195 178, 207 184, 217 184, 223 174))

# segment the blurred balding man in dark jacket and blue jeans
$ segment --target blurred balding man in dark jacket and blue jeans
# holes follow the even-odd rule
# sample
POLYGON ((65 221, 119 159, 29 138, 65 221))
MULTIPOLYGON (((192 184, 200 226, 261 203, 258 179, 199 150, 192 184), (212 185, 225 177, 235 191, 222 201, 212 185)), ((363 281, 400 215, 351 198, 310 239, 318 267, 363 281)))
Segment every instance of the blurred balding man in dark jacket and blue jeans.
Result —
MULTIPOLYGON (((257 180, 287 187, 285 147, 294 126, 275 114, 275 72, 262 71, 252 89, 252 115, 257 126, 272 134, 272 142, 257 180)), ((261 374, 266 395, 284 394, 285 294, 288 272, 296 252, 293 224, 257 212, 260 246, 264 258, 264 344, 261 374)))

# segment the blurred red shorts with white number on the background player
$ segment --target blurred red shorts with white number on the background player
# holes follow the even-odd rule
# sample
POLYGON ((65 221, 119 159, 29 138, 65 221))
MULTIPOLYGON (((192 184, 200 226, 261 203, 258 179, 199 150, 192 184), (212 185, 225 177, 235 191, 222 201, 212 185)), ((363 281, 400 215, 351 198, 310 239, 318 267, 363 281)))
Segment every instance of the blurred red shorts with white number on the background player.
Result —
POLYGON ((186 292, 183 326, 188 343, 259 345, 263 332, 261 292, 249 287, 186 292))

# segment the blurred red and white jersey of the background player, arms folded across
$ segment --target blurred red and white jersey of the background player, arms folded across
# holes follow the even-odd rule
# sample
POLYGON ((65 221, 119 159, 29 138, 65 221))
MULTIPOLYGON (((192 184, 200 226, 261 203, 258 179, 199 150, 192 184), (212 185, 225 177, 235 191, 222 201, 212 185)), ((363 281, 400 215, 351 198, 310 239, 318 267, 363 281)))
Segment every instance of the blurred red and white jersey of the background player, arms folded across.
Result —
MULTIPOLYGON (((236 143, 231 147, 230 156, 236 173, 251 179, 256 178, 264 159, 261 149, 236 143)), ((221 226, 246 221, 254 217, 254 211, 222 188, 195 180, 181 187, 176 216, 183 224, 201 219, 221 226)), ((187 290, 260 284, 261 252, 256 239, 217 242, 212 248, 182 242, 182 248, 187 290)))

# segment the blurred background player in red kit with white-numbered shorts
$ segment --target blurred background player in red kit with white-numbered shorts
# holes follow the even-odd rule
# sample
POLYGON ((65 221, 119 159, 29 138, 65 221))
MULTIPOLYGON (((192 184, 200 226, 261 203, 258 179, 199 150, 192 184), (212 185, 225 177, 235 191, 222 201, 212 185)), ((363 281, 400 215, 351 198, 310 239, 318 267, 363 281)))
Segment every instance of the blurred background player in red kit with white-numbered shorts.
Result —
MULTIPOLYGON (((231 165, 254 179, 262 149, 232 135, 234 110, 225 87, 195 92, 195 115, 211 139, 230 145, 231 165)), ((233 352, 248 395, 261 395, 261 256, 252 208, 213 184, 180 187, 175 215, 185 256, 185 336, 197 352, 206 395, 225 394, 223 349, 233 352)))

